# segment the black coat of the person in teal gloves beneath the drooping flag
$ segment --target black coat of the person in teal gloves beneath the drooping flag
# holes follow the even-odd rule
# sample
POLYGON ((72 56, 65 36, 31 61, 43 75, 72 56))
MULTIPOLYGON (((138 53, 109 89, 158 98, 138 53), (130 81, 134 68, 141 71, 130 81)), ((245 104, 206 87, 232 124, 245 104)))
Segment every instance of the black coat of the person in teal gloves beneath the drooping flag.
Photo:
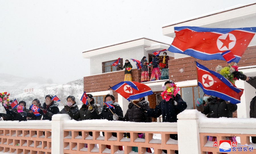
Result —
POLYGON ((205 115, 209 114, 210 118, 232 118, 232 112, 237 110, 237 105, 227 104, 223 99, 212 98, 211 100, 208 99, 208 103, 204 107, 203 105, 197 106, 197 110, 205 115))

